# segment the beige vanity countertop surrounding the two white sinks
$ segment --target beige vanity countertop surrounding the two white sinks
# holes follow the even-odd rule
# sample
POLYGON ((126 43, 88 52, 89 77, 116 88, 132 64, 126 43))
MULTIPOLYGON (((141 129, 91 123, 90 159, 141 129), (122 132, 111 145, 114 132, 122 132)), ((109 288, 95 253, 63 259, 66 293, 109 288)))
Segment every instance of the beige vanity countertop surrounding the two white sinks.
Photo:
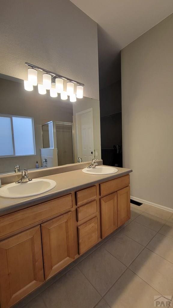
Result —
POLYGON ((47 193, 43 193, 41 195, 33 197, 18 198, 18 199, 0 197, 0 216, 7 213, 12 213, 19 209, 27 208, 32 205, 36 205, 44 201, 54 199, 56 197, 67 195, 72 191, 77 191, 97 183, 113 180, 132 172, 131 169, 118 168, 118 167, 116 168, 119 170, 117 173, 107 174, 107 175, 86 174, 83 173, 82 170, 80 169, 80 170, 74 170, 74 171, 41 177, 43 179, 45 178, 54 180, 56 182, 55 188, 53 188, 47 193))

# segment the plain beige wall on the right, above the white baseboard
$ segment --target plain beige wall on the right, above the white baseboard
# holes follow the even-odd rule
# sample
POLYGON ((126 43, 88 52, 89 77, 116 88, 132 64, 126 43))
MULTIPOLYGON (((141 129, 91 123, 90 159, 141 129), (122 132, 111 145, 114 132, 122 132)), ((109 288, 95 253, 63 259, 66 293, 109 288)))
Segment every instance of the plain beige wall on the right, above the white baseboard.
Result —
POLYGON ((173 14, 122 50, 123 167, 131 195, 173 208, 173 14))

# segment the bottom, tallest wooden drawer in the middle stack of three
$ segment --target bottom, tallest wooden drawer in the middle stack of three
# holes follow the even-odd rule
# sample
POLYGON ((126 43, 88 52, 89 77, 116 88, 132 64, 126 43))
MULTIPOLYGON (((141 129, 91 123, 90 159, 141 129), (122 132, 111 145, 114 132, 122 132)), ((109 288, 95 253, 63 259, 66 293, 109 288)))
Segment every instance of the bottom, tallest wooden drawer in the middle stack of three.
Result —
POLYGON ((78 227, 79 254, 84 253, 98 242, 97 217, 86 221, 78 227))

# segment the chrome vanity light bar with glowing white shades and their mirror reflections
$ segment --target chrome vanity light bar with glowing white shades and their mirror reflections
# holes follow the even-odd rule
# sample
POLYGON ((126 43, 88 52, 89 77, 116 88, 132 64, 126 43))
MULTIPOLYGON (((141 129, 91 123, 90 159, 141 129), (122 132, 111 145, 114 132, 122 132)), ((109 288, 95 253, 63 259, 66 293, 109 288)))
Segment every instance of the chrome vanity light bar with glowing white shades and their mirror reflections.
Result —
POLYGON ((32 91, 33 86, 37 85, 37 71, 42 71, 43 81, 42 84, 38 84, 38 93, 46 94, 46 90, 50 90, 51 97, 57 97, 57 93, 61 94, 61 99, 65 100, 70 96, 70 102, 75 102, 76 98, 83 98, 83 87, 84 84, 76 80, 67 78, 65 76, 59 75, 57 73, 48 71, 42 67, 36 66, 34 64, 25 62, 28 69, 28 80, 24 80, 24 88, 27 91, 32 91), (67 89, 64 91, 64 79, 67 81, 67 89), (55 87, 52 87, 52 82, 55 87), (74 83, 77 84, 76 94, 74 93, 74 83))

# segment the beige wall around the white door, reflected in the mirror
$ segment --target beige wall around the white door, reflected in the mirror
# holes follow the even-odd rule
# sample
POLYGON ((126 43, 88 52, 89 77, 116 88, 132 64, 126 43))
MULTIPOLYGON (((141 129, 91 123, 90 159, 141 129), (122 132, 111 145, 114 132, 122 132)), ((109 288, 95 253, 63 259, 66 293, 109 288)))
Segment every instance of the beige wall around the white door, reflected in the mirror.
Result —
MULTIPOLYGON (((94 148, 98 150, 97 159, 101 159, 101 140, 100 140, 100 102, 99 100, 89 99, 84 97, 81 100, 77 100, 73 104, 73 122, 76 123, 76 113, 92 108, 93 110, 93 137, 94 137, 94 148)), ((78 154, 77 154, 78 155, 78 154)))

